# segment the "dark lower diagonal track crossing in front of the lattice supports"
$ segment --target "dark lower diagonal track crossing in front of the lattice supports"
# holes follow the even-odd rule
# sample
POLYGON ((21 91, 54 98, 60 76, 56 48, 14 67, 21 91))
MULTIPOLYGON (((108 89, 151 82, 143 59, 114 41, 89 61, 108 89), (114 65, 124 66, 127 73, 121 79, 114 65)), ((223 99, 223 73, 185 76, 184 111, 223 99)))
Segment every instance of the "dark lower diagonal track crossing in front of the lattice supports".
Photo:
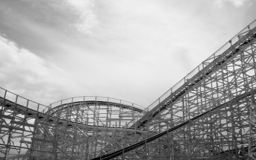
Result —
POLYGON ((206 116, 207 114, 213 114, 214 112, 217 112, 222 107, 231 105, 231 103, 237 103, 239 100, 241 100, 241 99, 243 99, 245 97, 249 97, 251 95, 255 95, 255 94, 256 94, 256 89, 252 90, 251 92, 246 92, 245 94, 240 95, 238 97, 235 97, 233 100, 230 100, 227 103, 223 103, 222 105, 216 106, 215 108, 210 109, 207 112, 202 113, 201 115, 197 115, 196 117, 191 118, 188 121, 184 121, 183 123, 178 124, 177 126, 172 127, 172 128, 170 128, 170 129, 168 129, 168 130, 166 130, 164 132, 160 132, 157 135, 153 135, 152 137, 146 138, 143 141, 139 141, 136 144, 132 144, 131 146, 122 148, 121 150, 117 150, 116 152, 113 152, 113 153, 110 153, 110 154, 107 154, 107 155, 104 155, 104 156, 96 157, 95 159, 92 159, 92 160, 109 160, 109 159, 113 159, 113 158, 115 158, 117 156, 121 156, 122 154, 128 153, 131 150, 135 150, 138 147, 142 147, 143 145, 149 144, 150 142, 156 140, 157 138, 162 137, 163 135, 166 135, 166 134, 169 134, 171 132, 174 132, 175 130, 180 129, 181 127, 184 127, 184 126, 186 126, 187 124, 189 124, 189 123, 191 123, 193 121, 197 121, 200 118, 203 118, 204 116, 206 116))

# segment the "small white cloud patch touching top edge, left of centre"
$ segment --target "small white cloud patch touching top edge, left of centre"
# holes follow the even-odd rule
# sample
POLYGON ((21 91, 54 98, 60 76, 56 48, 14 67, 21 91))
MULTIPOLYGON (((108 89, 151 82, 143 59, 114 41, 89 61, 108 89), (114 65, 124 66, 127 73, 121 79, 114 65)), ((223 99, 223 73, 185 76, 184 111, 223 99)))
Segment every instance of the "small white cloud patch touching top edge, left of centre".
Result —
POLYGON ((96 16, 96 8, 93 0, 66 0, 66 4, 78 14, 78 22, 74 25, 78 31, 92 33, 93 27, 99 22, 96 16))

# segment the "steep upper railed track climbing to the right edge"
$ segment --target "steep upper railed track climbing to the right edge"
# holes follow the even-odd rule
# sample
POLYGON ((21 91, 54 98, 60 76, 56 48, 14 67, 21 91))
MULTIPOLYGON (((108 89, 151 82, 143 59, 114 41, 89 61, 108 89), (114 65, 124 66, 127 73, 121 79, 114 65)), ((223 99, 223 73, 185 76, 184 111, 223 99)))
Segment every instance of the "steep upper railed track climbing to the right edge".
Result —
MULTIPOLYGON (((256 20, 251 24, 255 22, 256 20)), ((236 36, 239 36, 241 33, 243 33, 243 31, 241 31, 240 33, 237 33, 236 36)), ((145 124, 151 121, 152 118, 160 114, 160 112, 163 112, 165 109, 168 109, 170 104, 175 103, 175 101, 179 100, 181 97, 184 97, 184 95, 187 92, 189 92, 191 89, 195 88, 196 86, 199 86, 200 83, 203 80, 205 80, 206 77, 209 77, 211 74, 213 74, 213 71, 216 71, 217 68, 220 68, 226 63, 228 63, 229 61, 233 60, 233 58, 236 57, 237 54, 243 52, 246 48, 248 48, 249 45, 252 44, 252 42, 255 42, 255 40, 256 40, 256 27, 250 28, 250 31, 246 33, 246 35, 243 35, 243 38, 240 38, 239 40, 237 40, 237 42, 235 42, 233 45, 231 44, 231 41, 230 41, 231 45, 229 48, 227 48, 222 54, 218 56, 213 54, 209 58, 211 62, 203 63, 203 68, 198 67, 199 71, 197 71, 196 74, 184 77, 184 79, 182 79, 184 80, 184 84, 180 86, 178 89, 176 90, 169 89, 169 91, 166 92, 166 93, 170 92, 169 96, 168 94, 165 93, 160 98, 158 98, 155 101, 157 102, 157 104, 155 105, 155 102, 152 103, 152 105, 149 106, 148 109, 146 109, 146 112, 144 112, 142 117, 140 119, 137 119, 136 123, 134 123, 131 127, 133 128, 137 127, 138 129, 140 127, 144 127, 145 124)))

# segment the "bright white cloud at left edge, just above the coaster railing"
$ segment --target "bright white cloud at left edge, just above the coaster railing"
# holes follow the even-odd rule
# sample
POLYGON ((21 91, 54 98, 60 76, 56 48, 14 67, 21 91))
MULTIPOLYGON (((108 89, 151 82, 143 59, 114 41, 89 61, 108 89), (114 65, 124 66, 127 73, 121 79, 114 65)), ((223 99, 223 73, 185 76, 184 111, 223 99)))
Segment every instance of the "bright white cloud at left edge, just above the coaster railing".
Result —
POLYGON ((19 48, 0 36, 0 80, 1 87, 40 103, 49 104, 56 100, 51 95, 63 91, 64 72, 25 48, 19 48))

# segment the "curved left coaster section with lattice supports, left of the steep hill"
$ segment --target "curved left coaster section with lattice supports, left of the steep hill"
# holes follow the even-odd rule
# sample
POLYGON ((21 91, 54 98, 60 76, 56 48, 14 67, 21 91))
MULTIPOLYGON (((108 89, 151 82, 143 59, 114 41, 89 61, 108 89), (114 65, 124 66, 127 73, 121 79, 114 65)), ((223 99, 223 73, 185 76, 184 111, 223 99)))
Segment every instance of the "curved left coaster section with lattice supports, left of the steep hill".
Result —
POLYGON ((92 159, 145 133, 127 128, 142 112, 134 103, 73 97, 43 106, 5 89, 0 93, 3 159, 92 159))

